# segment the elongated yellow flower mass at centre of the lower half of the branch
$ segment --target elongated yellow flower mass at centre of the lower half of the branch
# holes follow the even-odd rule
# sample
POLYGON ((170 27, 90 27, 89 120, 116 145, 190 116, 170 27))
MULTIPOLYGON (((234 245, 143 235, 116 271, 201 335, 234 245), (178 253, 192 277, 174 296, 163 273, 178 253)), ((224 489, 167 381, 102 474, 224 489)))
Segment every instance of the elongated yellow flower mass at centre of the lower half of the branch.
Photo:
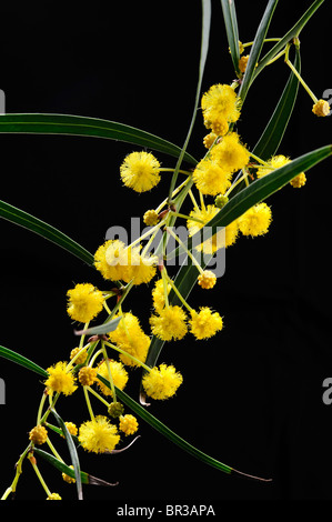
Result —
POLYGON ((135 367, 139 365, 130 355, 141 362, 145 362, 148 350, 150 347, 150 338, 147 335, 139 322, 139 319, 131 312, 122 315, 118 328, 109 333, 111 342, 115 343, 128 355, 121 353, 120 359, 123 364, 135 367))

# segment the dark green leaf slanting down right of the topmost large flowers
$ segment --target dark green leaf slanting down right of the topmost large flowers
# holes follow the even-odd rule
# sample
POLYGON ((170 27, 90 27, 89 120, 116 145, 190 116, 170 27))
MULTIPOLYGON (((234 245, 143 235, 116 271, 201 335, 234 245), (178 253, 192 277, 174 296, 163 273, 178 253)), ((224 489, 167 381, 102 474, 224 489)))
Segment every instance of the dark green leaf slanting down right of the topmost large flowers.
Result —
MULTIPOLYGON (((295 48, 294 68, 301 72, 301 56, 299 47, 295 48)), ((265 127, 259 142, 253 149, 253 153, 262 160, 269 160, 275 154, 284 135, 288 122, 291 118, 299 90, 299 80, 291 72, 283 93, 274 109, 274 112, 265 127)))

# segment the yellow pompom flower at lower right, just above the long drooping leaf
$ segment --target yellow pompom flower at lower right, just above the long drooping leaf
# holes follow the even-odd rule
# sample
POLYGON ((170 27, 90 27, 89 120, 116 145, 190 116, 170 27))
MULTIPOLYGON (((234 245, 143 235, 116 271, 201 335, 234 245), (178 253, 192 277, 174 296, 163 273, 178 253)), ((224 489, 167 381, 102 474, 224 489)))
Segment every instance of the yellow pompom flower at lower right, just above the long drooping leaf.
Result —
POLYGON ((175 394, 183 378, 173 365, 160 364, 144 374, 142 385, 152 399, 164 400, 175 394))

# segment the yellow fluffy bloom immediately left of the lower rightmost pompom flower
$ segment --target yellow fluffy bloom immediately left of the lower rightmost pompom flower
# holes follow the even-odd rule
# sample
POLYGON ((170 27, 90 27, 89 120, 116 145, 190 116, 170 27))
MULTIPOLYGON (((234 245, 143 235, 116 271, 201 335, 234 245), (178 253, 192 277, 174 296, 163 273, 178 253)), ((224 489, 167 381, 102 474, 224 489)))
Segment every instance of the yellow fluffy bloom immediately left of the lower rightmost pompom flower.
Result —
POLYGON ((163 341, 180 340, 188 330, 185 321, 185 312, 180 307, 165 307, 159 315, 151 315, 151 331, 163 341))

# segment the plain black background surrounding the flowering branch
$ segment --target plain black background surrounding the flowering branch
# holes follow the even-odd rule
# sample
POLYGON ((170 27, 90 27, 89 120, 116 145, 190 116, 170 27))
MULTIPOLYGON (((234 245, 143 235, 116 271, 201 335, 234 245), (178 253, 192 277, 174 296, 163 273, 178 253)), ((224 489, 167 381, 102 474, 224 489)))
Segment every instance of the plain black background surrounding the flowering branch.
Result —
MULTIPOLYGON (((251 41, 266 2, 237 2, 240 39, 251 41)), ((201 7, 194 2, 31 2, 2 6, 1 83, 7 112, 58 112, 128 123, 182 145, 194 103, 201 7)), ((203 90, 233 78, 222 11, 213 1, 210 53, 203 90)), ((280 0, 269 36, 283 36, 311 1, 280 0)), ((332 87, 325 2, 300 37, 302 73, 320 98, 332 87)), ((238 130, 252 148, 289 77, 283 61, 251 88, 238 130)), ((280 152, 292 158, 331 140, 331 119, 315 118, 300 88, 280 152)), ((189 152, 204 153, 202 119, 189 152)), ((130 227, 155 207, 168 178, 150 193, 122 187, 119 165, 139 148, 76 137, 1 134, 1 199, 53 224, 94 252, 109 227, 130 227)), ((163 165, 175 159, 157 154, 163 165)), ((268 201, 273 222, 264 238, 241 238, 227 251, 225 274, 211 292, 194 290, 193 305, 213 305, 224 331, 209 343, 169 343, 162 361, 183 373, 177 396, 150 406, 197 448, 271 483, 228 476, 183 453, 143 421, 141 438, 114 456, 81 453, 81 466, 114 489, 84 488, 87 500, 143 503, 187 499, 203 503, 239 500, 330 500, 332 405, 322 401, 331 375, 330 173, 331 161, 308 173, 301 190, 286 187, 268 201)), ((73 283, 101 277, 40 237, 1 222, 1 344, 43 368, 68 358, 77 343, 66 312, 73 283)), ((130 309, 148 329, 147 289, 132 292, 130 309)), ((34 425, 42 393, 39 378, 6 360, 1 405, 0 489, 34 425)), ((138 399, 139 372, 128 392, 138 399)), ((95 405, 95 409, 99 406, 95 405)), ((88 419, 83 398, 63 399, 66 420, 88 419)), ((103 413, 103 412, 101 412, 103 413)), ((56 442, 59 444, 60 442, 56 442)), ((63 448, 66 454, 66 449, 63 448)), ((52 491, 74 499, 74 486, 40 462, 52 491)), ((43 500, 24 465, 18 500, 43 500)))

